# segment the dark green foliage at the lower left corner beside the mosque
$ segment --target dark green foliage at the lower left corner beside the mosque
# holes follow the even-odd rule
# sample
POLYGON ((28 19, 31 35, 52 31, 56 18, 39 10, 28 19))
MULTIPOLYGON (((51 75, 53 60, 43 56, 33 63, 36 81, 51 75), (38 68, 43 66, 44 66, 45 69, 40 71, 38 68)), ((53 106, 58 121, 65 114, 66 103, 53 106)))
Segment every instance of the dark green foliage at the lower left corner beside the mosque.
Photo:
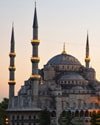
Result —
POLYGON ((4 125, 5 119, 7 117, 6 109, 8 108, 8 99, 4 98, 0 103, 0 125, 4 125))

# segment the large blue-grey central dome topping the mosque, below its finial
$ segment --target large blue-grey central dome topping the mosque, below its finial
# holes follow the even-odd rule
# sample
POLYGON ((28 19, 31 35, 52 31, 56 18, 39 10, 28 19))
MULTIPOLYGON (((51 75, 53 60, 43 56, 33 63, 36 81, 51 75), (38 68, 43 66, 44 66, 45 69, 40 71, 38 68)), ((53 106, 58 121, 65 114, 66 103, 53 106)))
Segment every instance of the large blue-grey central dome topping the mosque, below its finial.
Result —
POLYGON ((75 57, 62 53, 51 58, 47 65, 81 65, 81 63, 75 57))

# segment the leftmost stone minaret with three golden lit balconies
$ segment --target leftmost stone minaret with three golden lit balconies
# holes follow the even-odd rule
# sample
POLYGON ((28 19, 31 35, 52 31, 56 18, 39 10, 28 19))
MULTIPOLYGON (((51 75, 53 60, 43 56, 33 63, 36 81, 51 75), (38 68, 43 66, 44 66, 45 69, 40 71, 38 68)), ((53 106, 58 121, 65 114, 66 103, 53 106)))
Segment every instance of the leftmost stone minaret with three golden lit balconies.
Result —
POLYGON ((15 91, 15 40, 14 40, 14 26, 12 25, 12 34, 11 34, 11 47, 10 47, 10 66, 9 66, 9 99, 14 96, 15 91))

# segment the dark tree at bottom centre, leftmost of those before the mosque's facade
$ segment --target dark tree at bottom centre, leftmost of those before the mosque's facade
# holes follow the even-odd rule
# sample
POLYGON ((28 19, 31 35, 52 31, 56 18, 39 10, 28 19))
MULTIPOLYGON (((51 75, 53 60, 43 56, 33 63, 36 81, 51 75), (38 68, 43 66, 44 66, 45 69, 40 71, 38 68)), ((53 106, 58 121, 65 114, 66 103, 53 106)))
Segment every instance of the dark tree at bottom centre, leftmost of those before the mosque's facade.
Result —
POLYGON ((50 112, 46 109, 40 113, 40 125, 50 125, 50 112))

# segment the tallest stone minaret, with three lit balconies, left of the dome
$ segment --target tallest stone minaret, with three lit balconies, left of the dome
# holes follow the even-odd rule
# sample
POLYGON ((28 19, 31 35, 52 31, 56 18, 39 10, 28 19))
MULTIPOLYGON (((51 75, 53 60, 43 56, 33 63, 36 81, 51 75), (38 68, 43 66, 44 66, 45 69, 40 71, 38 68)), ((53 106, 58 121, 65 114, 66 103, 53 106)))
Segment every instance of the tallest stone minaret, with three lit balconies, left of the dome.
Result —
POLYGON ((33 81, 33 95, 38 96, 38 85, 40 80, 38 63, 40 58, 38 57, 38 45, 40 41, 38 40, 38 20, 37 20, 37 10, 35 3, 35 11, 34 11, 34 19, 33 19, 33 39, 31 41, 32 44, 32 75, 31 80, 33 81))

